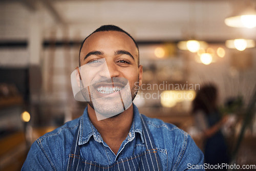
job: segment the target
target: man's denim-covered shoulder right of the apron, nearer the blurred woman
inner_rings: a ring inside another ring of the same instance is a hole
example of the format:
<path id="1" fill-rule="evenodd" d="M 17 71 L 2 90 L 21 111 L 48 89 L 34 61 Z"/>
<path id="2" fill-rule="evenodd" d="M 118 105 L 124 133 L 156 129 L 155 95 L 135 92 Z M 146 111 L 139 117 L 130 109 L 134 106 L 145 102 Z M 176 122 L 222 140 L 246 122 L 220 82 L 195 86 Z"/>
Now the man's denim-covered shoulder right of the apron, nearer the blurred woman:
<path id="1" fill-rule="evenodd" d="M 162 161 L 167 156 L 168 168 L 184 170 L 188 163 L 202 164 L 203 154 L 195 144 L 194 140 L 183 130 L 171 123 L 165 123 L 160 119 L 148 118 L 142 115 L 148 129 L 158 148 Z"/>

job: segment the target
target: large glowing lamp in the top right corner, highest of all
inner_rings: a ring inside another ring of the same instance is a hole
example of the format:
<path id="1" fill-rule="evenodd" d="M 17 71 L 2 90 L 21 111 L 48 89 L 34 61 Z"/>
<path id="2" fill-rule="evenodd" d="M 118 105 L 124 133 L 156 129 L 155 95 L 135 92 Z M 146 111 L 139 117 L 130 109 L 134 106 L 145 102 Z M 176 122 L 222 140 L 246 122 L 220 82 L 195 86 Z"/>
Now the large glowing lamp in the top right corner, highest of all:
<path id="1" fill-rule="evenodd" d="M 240 8 L 233 15 L 225 19 L 225 24 L 229 27 L 256 27 L 256 10 L 255 7 L 249 5 L 245 8 Z"/>

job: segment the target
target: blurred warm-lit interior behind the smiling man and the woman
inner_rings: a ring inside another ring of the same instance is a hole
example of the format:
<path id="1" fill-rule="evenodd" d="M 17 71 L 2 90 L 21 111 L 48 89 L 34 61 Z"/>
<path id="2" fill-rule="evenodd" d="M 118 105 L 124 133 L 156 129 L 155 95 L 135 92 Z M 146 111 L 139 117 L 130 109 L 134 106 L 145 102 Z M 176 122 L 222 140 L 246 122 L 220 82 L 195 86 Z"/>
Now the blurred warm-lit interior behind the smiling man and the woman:
<path id="1" fill-rule="evenodd" d="M 113 24 L 138 42 L 140 113 L 181 127 L 204 149 L 191 104 L 218 89 L 237 164 L 256 163 L 256 1 L 0 1 L 0 169 L 20 170 L 39 136 L 79 117 L 70 74 L 82 40 Z M 241 17 L 242 15 L 242 17 Z M 193 41 L 188 41 L 193 40 Z M 15 162 L 15 165 L 13 164 Z"/>

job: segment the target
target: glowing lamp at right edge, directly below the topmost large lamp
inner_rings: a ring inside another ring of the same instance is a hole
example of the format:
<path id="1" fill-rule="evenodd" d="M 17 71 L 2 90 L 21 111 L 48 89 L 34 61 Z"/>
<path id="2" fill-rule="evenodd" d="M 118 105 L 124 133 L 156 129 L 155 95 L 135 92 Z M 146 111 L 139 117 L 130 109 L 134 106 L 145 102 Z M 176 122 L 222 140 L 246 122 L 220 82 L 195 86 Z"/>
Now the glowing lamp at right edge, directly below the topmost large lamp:
<path id="1" fill-rule="evenodd" d="M 243 51 L 246 48 L 255 47 L 255 42 L 252 39 L 239 38 L 239 39 L 226 40 L 225 45 L 227 48 Z"/>

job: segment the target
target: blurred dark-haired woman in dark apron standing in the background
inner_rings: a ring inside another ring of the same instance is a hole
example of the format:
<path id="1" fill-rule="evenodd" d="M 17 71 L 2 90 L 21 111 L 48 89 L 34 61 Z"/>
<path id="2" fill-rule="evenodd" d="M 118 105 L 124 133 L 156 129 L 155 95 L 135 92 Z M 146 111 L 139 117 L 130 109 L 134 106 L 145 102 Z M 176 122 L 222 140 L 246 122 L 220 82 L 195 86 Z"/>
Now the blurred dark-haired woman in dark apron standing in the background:
<path id="1" fill-rule="evenodd" d="M 204 137 L 205 163 L 216 165 L 228 163 L 228 151 L 224 136 L 221 132 L 222 125 L 227 117 L 222 117 L 217 108 L 217 89 L 208 85 L 202 87 L 193 101 L 193 114 L 198 129 Z"/>

